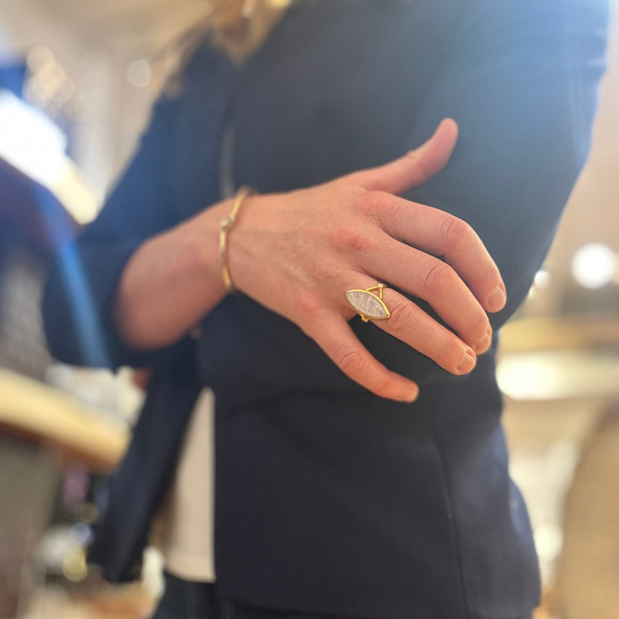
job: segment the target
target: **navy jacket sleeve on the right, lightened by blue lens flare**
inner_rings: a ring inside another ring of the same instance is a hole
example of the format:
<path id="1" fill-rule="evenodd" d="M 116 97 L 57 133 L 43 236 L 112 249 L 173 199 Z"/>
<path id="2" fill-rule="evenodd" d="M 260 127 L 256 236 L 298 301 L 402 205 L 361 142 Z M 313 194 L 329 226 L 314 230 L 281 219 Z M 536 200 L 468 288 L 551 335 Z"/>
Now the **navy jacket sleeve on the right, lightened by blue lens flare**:
<path id="1" fill-rule="evenodd" d="M 417 117 L 409 146 L 442 118 L 459 141 L 442 173 L 406 195 L 476 230 L 517 310 L 540 268 L 587 156 L 605 69 L 607 3 L 600 0 L 475 0 Z M 413 67 L 414 68 L 414 67 Z M 448 374 L 380 329 L 355 325 L 387 367 L 420 382 Z"/>

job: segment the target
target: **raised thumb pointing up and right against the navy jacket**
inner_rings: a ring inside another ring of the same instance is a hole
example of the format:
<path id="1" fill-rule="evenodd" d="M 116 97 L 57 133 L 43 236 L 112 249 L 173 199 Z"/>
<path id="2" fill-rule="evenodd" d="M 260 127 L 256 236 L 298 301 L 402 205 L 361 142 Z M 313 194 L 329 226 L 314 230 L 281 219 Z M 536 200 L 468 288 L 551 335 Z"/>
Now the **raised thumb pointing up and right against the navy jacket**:
<path id="1" fill-rule="evenodd" d="M 439 173 L 449 161 L 457 139 L 455 120 L 445 118 L 434 135 L 414 151 L 388 164 L 355 172 L 349 175 L 349 179 L 368 191 L 380 190 L 399 195 Z"/>

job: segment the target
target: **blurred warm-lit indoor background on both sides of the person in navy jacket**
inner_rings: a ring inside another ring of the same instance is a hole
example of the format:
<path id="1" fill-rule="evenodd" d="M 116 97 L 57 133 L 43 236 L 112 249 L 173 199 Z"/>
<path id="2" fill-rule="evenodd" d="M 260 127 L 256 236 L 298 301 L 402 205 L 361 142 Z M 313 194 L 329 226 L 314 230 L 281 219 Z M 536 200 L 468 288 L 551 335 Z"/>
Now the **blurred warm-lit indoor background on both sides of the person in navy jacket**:
<path id="1" fill-rule="evenodd" d="M 528 301 L 502 332 L 512 475 L 543 574 L 536 619 L 619 608 L 619 14 L 593 146 Z M 83 547 L 142 394 L 60 365 L 39 314 L 54 251 L 90 221 L 135 146 L 204 0 L 0 3 L 0 618 L 148 616 L 142 583 L 111 587 Z"/>

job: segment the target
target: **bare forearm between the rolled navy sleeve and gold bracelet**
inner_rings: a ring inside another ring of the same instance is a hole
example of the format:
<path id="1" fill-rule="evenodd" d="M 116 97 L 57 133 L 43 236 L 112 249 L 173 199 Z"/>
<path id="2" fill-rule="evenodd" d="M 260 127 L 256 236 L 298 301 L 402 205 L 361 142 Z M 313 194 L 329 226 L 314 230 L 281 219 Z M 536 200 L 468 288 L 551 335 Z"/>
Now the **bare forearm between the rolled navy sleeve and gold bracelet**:
<path id="1" fill-rule="evenodd" d="M 144 242 L 122 272 L 114 320 L 127 346 L 165 347 L 182 338 L 226 294 L 219 269 L 221 202 Z"/>

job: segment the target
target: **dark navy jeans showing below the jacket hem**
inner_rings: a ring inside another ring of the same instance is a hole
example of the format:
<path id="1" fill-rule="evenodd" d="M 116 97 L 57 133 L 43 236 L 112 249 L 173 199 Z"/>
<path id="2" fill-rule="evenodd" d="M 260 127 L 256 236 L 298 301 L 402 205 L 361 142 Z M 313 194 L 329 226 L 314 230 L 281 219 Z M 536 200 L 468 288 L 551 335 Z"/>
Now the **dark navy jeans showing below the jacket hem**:
<path id="1" fill-rule="evenodd" d="M 257 608 L 221 600 L 215 585 L 191 583 L 167 573 L 165 579 L 166 589 L 151 619 L 351 619 Z"/>

